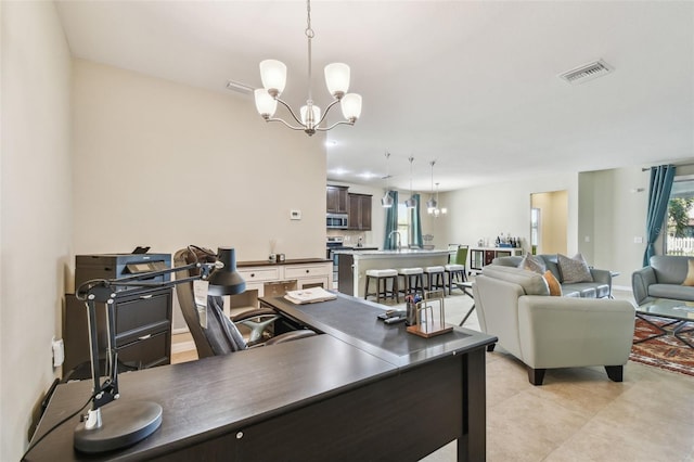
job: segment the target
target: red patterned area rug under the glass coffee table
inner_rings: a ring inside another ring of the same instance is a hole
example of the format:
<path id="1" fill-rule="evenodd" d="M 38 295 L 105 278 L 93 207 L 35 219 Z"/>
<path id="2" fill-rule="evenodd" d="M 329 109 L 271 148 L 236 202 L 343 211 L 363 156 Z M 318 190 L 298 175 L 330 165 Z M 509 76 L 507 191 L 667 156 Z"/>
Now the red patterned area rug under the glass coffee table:
<path id="1" fill-rule="evenodd" d="M 648 317 L 648 320 L 657 325 L 667 324 L 671 319 Z M 670 329 L 670 328 L 666 328 Z M 634 329 L 633 339 L 639 341 L 652 335 L 658 334 L 659 331 L 650 325 L 642 319 L 637 318 L 637 326 Z M 694 343 L 694 333 L 689 332 L 682 334 Z M 633 344 L 629 359 L 644 364 L 653 365 L 669 371 L 694 376 L 694 348 L 690 348 L 682 342 L 677 339 L 671 333 L 663 335 L 658 338 Z"/>

